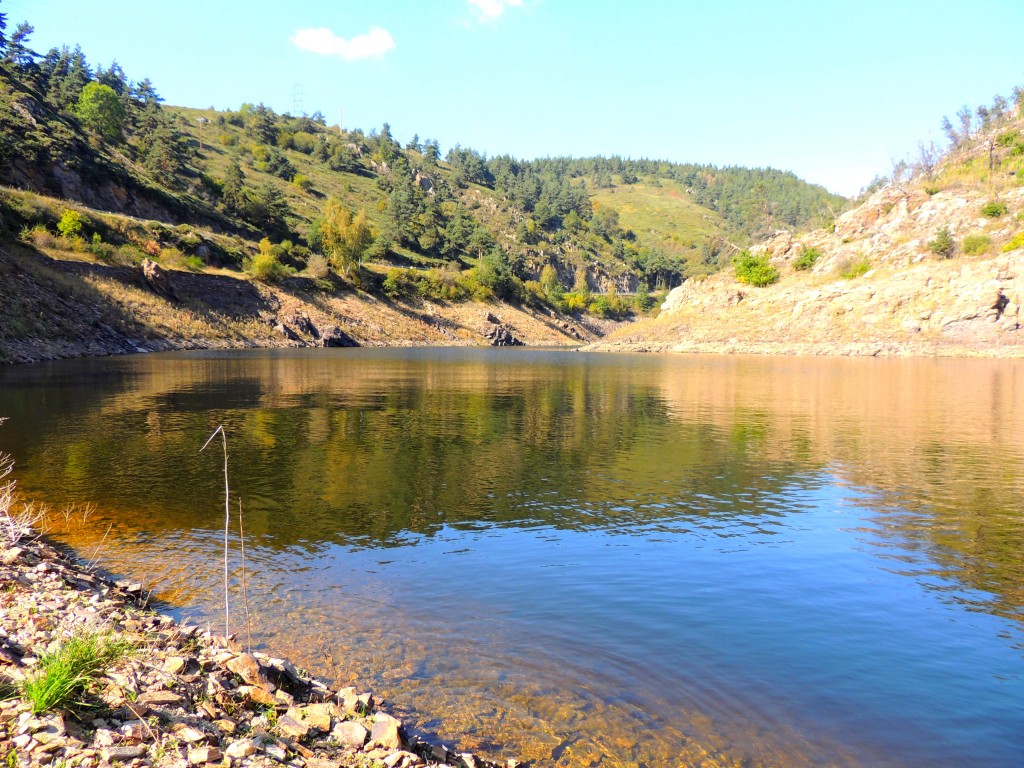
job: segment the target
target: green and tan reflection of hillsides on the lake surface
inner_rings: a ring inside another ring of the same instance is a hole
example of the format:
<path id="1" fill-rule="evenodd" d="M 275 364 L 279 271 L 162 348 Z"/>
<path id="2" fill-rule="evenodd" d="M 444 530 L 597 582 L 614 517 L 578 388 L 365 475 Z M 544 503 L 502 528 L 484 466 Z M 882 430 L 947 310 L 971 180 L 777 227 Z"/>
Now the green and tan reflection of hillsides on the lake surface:
<path id="1" fill-rule="evenodd" d="M 217 527 L 220 480 L 198 446 L 220 423 L 249 531 L 271 547 L 777 513 L 786 483 L 839 467 L 878 489 L 883 552 L 991 593 L 1004 615 L 1024 604 L 1013 361 L 389 352 L 49 370 L 42 395 L 28 370 L 0 387 L 22 417 L 3 437 L 24 486 L 63 483 L 61 499 L 152 530 Z"/>

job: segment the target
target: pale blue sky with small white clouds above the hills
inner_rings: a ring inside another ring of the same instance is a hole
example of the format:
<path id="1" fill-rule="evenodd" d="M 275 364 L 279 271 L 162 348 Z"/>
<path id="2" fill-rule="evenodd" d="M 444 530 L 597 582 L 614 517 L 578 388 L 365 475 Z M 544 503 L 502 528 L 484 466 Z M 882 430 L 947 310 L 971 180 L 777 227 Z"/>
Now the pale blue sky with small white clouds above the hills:
<path id="1" fill-rule="evenodd" d="M 853 194 L 1024 84 L 1021 0 L 0 0 L 168 103 L 520 158 L 771 166 Z"/>

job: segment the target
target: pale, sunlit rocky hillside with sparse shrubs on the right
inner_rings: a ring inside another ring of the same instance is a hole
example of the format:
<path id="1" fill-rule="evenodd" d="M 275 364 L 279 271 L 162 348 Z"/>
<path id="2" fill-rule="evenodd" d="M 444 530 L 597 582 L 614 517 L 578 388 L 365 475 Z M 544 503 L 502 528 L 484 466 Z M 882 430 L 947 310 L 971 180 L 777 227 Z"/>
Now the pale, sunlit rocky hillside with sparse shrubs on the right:
<path id="1" fill-rule="evenodd" d="M 1024 114 L 966 126 L 834 228 L 779 231 L 750 257 L 764 281 L 741 267 L 687 281 L 596 348 L 1024 355 Z"/>

